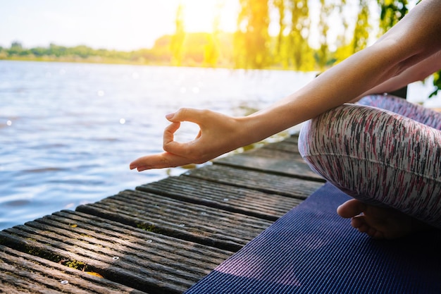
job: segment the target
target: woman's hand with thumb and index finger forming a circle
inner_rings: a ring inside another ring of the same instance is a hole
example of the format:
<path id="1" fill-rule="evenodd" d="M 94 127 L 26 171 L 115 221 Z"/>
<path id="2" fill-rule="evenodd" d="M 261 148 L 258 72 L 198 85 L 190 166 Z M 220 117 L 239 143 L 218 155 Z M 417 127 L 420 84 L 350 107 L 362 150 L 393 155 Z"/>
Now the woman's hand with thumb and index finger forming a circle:
<path id="1" fill-rule="evenodd" d="M 130 169 L 145 171 L 201 164 L 221 154 L 242 146 L 239 118 L 232 118 L 209 110 L 180 109 L 166 116 L 170 125 L 163 133 L 165 152 L 139 157 L 130 164 Z M 174 134 L 180 122 L 190 121 L 199 125 L 199 134 L 190 142 L 176 142 Z"/>

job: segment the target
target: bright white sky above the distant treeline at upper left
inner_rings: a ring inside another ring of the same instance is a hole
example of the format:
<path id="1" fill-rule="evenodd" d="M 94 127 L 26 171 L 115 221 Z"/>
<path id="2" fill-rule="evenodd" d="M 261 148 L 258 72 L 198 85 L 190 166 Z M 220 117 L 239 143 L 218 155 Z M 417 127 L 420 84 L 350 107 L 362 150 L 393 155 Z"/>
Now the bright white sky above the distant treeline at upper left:
<path id="1" fill-rule="evenodd" d="M 216 7 L 221 30 L 236 27 L 238 0 L 181 0 L 187 32 L 211 32 Z M 0 0 L 0 46 L 25 48 L 50 43 L 130 51 L 151 48 L 175 32 L 180 0 Z"/>

